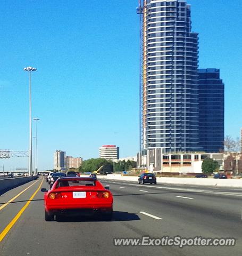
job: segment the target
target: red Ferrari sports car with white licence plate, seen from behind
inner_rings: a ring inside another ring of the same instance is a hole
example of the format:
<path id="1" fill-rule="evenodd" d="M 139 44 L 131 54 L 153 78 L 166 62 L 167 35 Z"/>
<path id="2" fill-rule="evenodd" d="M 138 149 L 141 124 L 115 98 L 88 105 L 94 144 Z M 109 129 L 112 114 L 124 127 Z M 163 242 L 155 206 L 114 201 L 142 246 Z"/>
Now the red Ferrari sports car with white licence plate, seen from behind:
<path id="1" fill-rule="evenodd" d="M 55 215 L 105 214 L 111 220 L 113 213 L 112 193 L 95 178 L 66 177 L 55 181 L 45 192 L 45 220 L 53 221 Z"/>

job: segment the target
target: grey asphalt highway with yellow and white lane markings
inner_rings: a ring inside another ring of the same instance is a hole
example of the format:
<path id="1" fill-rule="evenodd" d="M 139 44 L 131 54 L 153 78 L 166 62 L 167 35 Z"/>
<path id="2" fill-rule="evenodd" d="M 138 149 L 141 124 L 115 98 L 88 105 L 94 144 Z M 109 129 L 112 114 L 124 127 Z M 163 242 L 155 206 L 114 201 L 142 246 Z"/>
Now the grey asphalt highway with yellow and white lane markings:
<path id="1" fill-rule="evenodd" d="M 112 221 L 87 217 L 44 221 L 40 188 L 48 186 L 42 177 L 2 194 L 0 255 L 241 255 L 242 189 L 101 181 L 114 195 Z M 182 249 L 113 244 L 113 238 L 143 236 L 229 237 L 237 241 L 232 247 Z"/>

